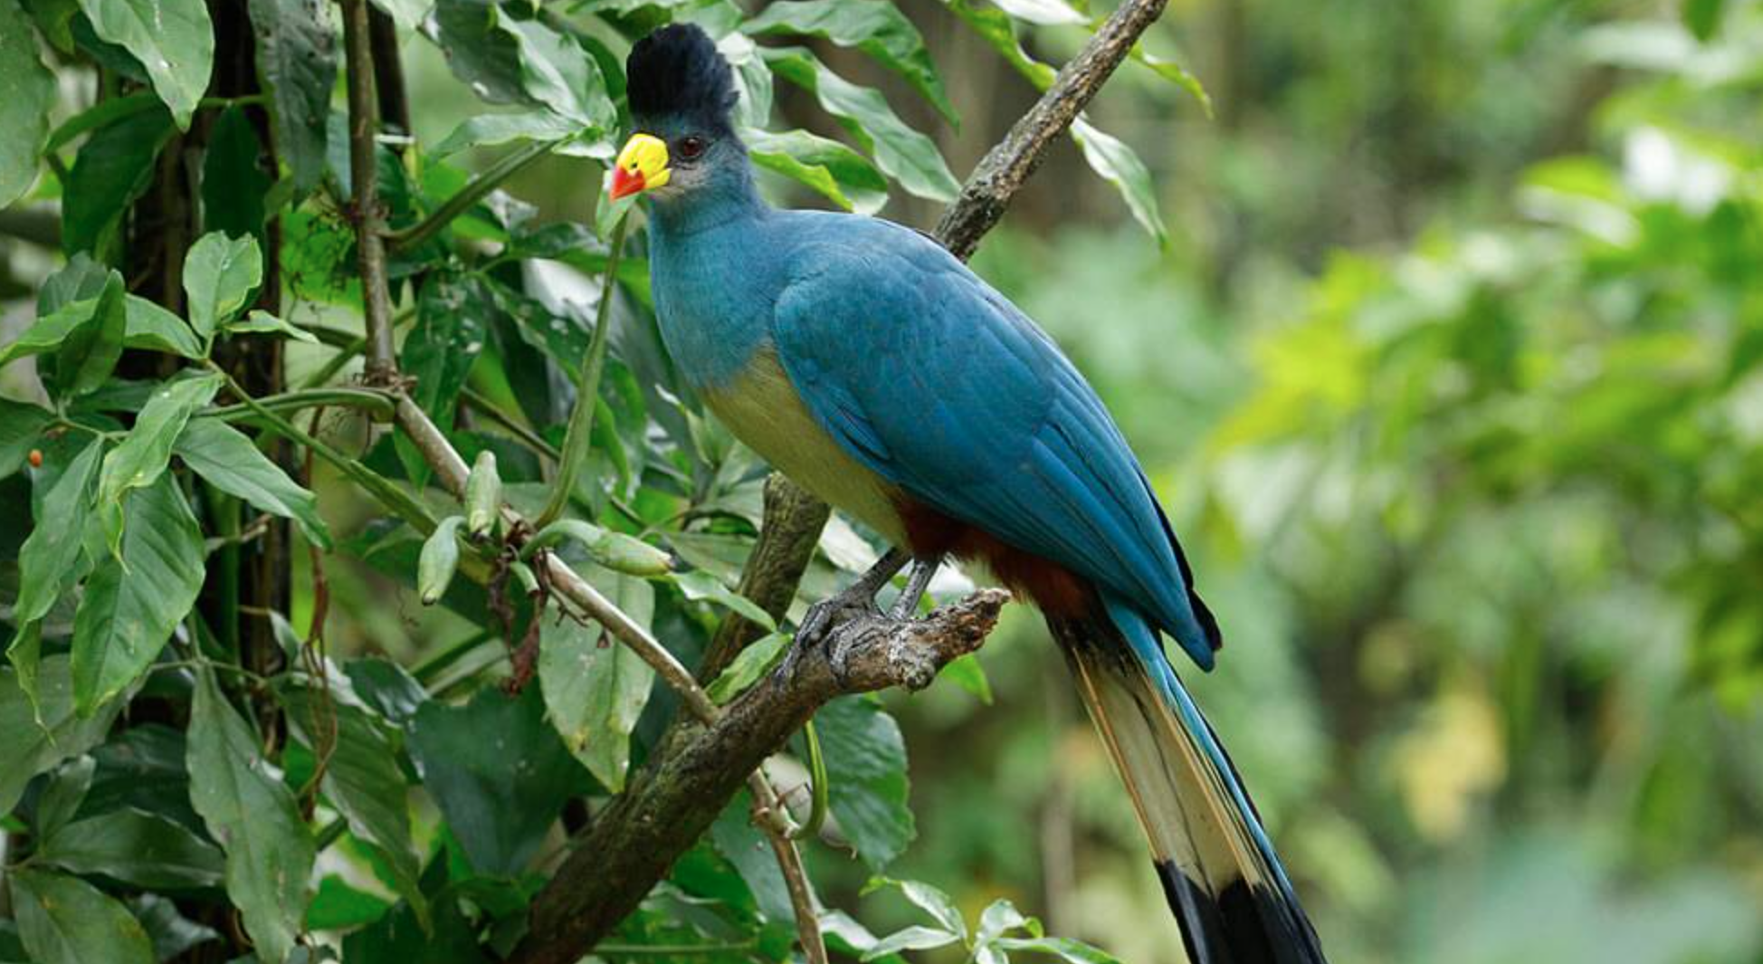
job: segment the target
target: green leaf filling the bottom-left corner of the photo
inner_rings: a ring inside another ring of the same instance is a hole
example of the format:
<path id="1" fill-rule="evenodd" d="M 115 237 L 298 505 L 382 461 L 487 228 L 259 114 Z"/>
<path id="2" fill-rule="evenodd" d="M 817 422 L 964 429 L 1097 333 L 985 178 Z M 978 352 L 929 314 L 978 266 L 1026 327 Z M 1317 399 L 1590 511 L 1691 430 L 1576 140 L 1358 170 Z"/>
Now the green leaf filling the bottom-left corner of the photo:
<path id="1" fill-rule="evenodd" d="M 37 964 L 153 964 L 141 922 L 79 878 L 12 871 L 12 913 Z"/>

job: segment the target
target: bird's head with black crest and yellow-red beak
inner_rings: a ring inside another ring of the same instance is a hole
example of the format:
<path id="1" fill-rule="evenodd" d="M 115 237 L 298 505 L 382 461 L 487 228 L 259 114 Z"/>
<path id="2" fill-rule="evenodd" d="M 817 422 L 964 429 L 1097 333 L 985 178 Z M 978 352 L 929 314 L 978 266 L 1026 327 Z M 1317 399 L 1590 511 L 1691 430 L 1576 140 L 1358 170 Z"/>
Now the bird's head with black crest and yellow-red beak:
<path id="1" fill-rule="evenodd" d="M 739 93 L 728 62 L 700 26 L 673 23 L 626 60 L 635 132 L 612 171 L 612 197 L 684 197 L 719 171 L 746 171 L 730 113 Z"/>

